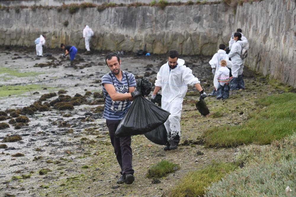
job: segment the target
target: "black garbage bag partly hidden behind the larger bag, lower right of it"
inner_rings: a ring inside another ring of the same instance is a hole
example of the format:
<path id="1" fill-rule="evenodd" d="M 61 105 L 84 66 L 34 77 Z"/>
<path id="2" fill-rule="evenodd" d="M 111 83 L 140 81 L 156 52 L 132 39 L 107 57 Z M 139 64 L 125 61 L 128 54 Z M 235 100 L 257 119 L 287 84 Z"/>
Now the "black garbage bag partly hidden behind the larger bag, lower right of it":
<path id="1" fill-rule="evenodd" d="M 162 124 L 156 129 L 144 134 L 147 139 L 155 144 L 165 145 L 167 141 L 167 131 L 165 125 Z"/>

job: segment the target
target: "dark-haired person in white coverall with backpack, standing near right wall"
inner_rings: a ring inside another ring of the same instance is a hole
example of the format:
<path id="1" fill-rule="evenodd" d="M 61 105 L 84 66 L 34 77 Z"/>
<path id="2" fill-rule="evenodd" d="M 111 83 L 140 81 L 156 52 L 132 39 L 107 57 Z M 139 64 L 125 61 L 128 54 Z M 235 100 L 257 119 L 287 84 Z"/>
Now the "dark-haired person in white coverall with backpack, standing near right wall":
<path id="1" fill-rule="evenodd" d="M 234 33 L 234 41 L 231 50 L 228 54 L 231 58 L 232 79 L 230 81 L 230 90 L 244 89 L 244 80 L 242 73 L 244 71 L 244 60 L 242 59 L 242 50 L 246 44 L 246 40 L 241 39 L 242 35 L 239 32 Z"/>

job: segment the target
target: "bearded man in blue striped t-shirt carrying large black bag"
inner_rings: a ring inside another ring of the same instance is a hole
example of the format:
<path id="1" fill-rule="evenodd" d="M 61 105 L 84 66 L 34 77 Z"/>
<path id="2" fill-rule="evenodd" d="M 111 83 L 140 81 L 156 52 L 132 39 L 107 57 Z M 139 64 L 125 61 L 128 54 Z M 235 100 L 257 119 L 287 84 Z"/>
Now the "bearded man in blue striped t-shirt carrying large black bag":
<path id="1" fill-rule="evenodd" d="M 116 138 L 115 131 L 131 106 L 133 97 L 141 95 L 141 90 L 135 89 L 134 75 L 120 69 L 121 60 L 117 53 L 107 53 L 105 61 L 110 72 L 102 77 L 105 98 L 103 118 L 106 118 L 111 144 L 121 168 L 121 176 L 117 183 L 132 184 L 135 178 L 132 168 L 131 136 Z"/>

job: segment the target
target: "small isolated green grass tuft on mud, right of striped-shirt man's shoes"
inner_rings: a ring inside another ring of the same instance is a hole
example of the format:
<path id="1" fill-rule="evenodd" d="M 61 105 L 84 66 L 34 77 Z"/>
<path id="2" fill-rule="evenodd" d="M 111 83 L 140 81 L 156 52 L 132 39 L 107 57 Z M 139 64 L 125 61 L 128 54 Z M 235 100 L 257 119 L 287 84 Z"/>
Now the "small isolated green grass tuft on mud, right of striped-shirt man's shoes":
<path id="1" fill-rule="evenodd" d="M 147 172 L 147 178 L 161 178 L 164 177 L 166 174 L 179 169 L 179 164 L 167 160 L 162 160 L 161 162 L 158 162 L 156 165 L 150 167 L 150 169 Z"/>

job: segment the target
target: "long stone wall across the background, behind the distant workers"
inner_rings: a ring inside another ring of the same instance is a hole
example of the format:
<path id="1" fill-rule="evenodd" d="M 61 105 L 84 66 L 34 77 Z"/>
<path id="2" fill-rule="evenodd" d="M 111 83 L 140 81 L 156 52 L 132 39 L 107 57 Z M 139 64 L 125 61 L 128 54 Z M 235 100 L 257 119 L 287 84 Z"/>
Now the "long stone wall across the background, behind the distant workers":
<path id="1" fill-rule="evenodd" d="M 224 4 L 86 8 L 74 14 L 56 8 L 1 10 L 0 44 L 31 46 L 42 33 L 51 48 L 60 43 L 84 48 L 82 31 L 89 25 L 93 49 L 137 51 L 146 43 L 151 53 L 175 48 L 186 55 L 212 55 L 219 43 L 228 42 L 233 17 Z"/>

